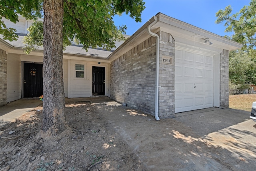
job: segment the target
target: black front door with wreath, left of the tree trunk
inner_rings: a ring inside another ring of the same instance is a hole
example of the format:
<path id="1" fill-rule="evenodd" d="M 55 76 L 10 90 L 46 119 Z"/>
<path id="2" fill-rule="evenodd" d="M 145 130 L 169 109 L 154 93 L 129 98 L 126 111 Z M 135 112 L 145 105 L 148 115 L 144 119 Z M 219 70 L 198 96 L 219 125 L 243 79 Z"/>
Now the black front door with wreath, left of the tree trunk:
<path id="1" fill-rule="evenodd" d="M 43 64 L 23 64 L 23 97 L 40 97 L 43 95 Z"/>

